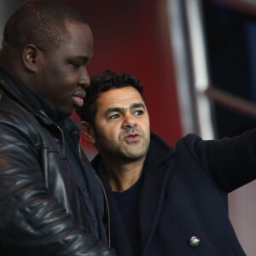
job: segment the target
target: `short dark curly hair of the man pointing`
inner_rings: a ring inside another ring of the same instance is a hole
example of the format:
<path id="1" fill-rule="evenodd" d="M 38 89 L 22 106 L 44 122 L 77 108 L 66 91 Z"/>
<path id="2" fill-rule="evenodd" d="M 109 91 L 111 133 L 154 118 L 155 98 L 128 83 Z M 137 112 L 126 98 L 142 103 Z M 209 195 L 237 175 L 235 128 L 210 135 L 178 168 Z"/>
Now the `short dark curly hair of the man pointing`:
<path id="1" fill-rule="evenodd" d="M 131 86 L 135 88 L 143 98 L 143 84 L 140 80 L 127 73 L 115 73 L 111 70 L 106 70 L 102 73 L 96 74 L 90 78 L 90 87 L 86 89 L 86 97 L 84 106 L 77 108 L 76 112 L 80 119 L 95 125 L 95 116 L 97 111 L 96 100 L 102 92 L 119 89 Z"/>

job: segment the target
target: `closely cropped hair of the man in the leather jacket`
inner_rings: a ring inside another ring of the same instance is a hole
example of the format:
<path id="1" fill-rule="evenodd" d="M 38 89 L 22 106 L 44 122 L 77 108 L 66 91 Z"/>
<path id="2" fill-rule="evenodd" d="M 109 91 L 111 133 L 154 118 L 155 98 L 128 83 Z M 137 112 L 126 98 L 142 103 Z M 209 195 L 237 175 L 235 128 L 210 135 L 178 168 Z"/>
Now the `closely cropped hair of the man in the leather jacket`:
<path id="1" fill-rule="evenodd" d="M 35 44 L 41 50 L 52 51 L 68 43 L 67 20 L 87 24 L 83 15 L 67 5 L 52 0 L 32 1 L 10 16 L 3 41 L 13 47 Z"/>

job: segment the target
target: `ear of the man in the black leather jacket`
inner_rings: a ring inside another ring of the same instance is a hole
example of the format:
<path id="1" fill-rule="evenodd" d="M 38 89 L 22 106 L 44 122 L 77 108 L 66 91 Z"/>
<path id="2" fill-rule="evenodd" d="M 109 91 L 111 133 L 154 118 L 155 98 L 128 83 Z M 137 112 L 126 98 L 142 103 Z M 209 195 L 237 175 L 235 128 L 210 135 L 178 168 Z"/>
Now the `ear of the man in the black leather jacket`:
<path id="1" fill-rule="evenodd" d="M 38 55 L 39 49 L 34 44 L 28 44 L 23 49 L 22 60 L 25 67 L 31 72 L 37 72 L 38 70 Z"/>

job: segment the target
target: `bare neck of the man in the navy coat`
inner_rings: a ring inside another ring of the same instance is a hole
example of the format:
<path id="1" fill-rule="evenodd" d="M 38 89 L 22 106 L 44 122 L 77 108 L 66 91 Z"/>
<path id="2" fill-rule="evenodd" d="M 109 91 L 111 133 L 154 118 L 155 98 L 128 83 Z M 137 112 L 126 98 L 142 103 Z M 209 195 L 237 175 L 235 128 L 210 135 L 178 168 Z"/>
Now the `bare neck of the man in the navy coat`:
<path id="1" fill-rule="evenodd" d="M 123 192 L 137 183 L 143 172 L 144 160 L 145 159 L 132 161 L 125 164 L 117 163 L 117 161 L 113 163 L 113 161 L 104 160 L 112 190 L 115 192 Z"/>

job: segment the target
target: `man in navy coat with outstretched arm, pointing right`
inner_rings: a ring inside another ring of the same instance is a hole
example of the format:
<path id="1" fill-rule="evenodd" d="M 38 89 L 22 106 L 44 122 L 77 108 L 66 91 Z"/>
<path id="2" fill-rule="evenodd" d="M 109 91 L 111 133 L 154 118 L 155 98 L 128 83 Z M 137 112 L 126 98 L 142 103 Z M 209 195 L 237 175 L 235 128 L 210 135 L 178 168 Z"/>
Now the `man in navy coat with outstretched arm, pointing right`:
<path id="1" fill-rule="evenodd" d="M 210 141 L 190 134 L 171 148 L 149 132 L 142 84 L 111 71 L 91 79 L 77 112 L 99 151 L 92 163 L 107 188 L 119 255 L 245 255 L 227 195 L 256 177 L 255 130 Z"/>

